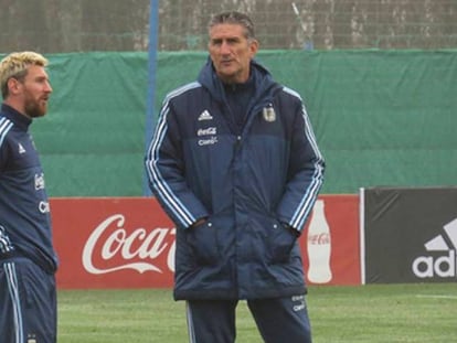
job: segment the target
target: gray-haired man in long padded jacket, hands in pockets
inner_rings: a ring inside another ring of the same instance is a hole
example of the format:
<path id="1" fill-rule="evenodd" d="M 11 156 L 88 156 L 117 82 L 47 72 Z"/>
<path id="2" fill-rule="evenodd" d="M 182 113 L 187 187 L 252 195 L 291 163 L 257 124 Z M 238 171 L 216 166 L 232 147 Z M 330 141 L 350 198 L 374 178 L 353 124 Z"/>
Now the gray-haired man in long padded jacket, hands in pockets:
<path id="1" fill-rule="evenodd" d="M 177 227 L 174 299 L 190 342 L 233 343 L 246 300 L 268 343 L 310 343 L 298 237 L 323 181 L 300 96 L 254 61 L 244 13 L 216 14 L 196 82 L 164 99 L 146 156 Z"/>

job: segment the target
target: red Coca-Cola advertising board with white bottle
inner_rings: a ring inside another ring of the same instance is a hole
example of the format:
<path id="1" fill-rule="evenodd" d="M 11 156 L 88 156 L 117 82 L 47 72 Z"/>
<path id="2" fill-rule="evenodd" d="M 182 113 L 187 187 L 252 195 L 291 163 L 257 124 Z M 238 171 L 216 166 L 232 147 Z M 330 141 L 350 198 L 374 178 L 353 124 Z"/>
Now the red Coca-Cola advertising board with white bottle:
<path id="1" fill-rule="evenodd" d="M 172 222 L 155 197 L 51 199 L 61 289 L 171 288 Z M 359 196 L 322 195 L 300 237 L 308 283 L 360 285 Z"/>

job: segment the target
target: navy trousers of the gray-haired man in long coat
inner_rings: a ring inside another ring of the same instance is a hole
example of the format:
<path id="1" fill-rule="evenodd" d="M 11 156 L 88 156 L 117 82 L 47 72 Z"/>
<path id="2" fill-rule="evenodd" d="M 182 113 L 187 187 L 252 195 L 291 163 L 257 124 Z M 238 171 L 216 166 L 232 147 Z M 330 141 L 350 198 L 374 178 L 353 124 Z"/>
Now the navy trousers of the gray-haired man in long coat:
<path id="1" fill-rule="evenodd" d="M 233 343 L 238 301 L 192 300 L 187 302 L 190 343 Z M 247 300 L 265 343 L 311 343 L 305 296 Z"/>

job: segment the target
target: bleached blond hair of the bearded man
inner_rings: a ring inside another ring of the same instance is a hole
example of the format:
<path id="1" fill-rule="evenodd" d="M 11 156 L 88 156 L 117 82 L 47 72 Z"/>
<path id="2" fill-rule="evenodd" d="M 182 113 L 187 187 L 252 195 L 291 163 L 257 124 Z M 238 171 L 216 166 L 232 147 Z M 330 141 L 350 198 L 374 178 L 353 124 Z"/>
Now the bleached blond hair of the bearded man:
<path id="1" fill-rule="evenodd" d="M 8 81 L 11 77 L 22 81 L 31 65 L 44 67 L 47 63 L 47 60 L 41 54 L 31 51 L 11 53 L 1 60 L 0 87 L 3 99 L 8 96 Z"/>

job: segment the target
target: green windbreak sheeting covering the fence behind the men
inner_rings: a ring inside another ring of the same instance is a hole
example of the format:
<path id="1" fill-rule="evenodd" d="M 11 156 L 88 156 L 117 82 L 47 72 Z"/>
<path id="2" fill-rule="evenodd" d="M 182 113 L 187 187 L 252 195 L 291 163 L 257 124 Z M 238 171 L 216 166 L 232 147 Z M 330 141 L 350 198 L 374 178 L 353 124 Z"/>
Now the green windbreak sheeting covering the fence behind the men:
<path id="1" fill-rule="evenodd" d="M 46 117 L 32 126 L 51 196 L 139 196 L 147 53 L 54 54 Z M 204 52 L 158 53 L 164 95 L 195 79 Z M 457 182 L 457 51 L 264 51 L 301 94 L 327 160 L 323 193 Z"/>

